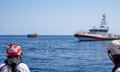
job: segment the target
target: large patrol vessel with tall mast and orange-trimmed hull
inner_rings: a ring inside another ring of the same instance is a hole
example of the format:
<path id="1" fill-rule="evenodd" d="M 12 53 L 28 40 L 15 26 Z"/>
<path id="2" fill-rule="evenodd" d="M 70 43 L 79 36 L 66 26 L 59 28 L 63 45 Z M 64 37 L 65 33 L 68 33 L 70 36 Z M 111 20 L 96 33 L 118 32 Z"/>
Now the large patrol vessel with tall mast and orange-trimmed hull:
<path id="1" fill-rule="evenodd" d="M 103 14 L 103 19 L 98 28 L 93 27 L 88 32 L 77 32 L 74 34 L 79 41 L 103 41 L 103 40 L 118 40 L 120 39 L 113 33 L 108 33 L 109 27 L 106 23 L 106 15 Z"/>

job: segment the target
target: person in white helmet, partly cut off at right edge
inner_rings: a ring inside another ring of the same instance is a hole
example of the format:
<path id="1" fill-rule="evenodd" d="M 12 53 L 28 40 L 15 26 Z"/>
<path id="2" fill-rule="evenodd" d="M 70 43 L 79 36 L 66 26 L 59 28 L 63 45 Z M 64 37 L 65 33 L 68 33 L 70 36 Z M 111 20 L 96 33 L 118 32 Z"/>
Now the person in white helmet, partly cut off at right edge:
<path id="1" fill-rule="evenodd" d="M 120 40 L 113 40 L 107 50 L 108 56 L 114 64 L 112 72 L 120 72 Z"/>

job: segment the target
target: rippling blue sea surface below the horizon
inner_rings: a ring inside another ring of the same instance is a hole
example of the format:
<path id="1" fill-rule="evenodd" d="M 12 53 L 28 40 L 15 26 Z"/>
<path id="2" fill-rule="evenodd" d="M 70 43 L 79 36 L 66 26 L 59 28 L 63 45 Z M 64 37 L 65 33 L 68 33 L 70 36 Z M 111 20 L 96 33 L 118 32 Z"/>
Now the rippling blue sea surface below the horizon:
<path id="1" fill-rule="evenodd" d="M 78 42 L 73 36 L 0 36 L 0 63 L 6 59 L 6 47 L 23 48 L 23 62 L 31 72 L 111 72 L 107 56 L 109 41 Z"/>

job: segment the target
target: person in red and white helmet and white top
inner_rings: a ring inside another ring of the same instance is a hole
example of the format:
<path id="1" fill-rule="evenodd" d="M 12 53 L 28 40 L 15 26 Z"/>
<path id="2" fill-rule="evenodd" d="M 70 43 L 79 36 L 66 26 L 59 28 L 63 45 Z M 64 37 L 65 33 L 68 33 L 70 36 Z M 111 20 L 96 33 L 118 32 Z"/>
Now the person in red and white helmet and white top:
<path id="1" fill-rule="evenodd" d="M 22 62 L 22 48 L 10 44 L 7 47 L 7 59 L 0 66 L 0 72 L 30 72 L 28 66 Z"/>

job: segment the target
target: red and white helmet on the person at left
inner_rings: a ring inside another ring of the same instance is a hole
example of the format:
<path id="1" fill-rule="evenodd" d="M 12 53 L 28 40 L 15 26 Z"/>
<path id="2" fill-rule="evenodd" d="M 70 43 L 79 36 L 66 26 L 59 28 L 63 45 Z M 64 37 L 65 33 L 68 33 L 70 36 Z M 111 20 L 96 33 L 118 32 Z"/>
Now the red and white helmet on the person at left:
<path id="1" fill-rule="evenodd" d="M 22 48 L 18 45 L 10 44 L 7 47 L 7 56 L 21 56 L 22 55 Z"/>

